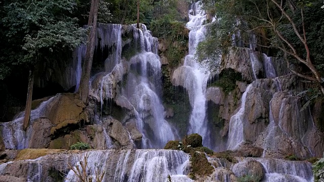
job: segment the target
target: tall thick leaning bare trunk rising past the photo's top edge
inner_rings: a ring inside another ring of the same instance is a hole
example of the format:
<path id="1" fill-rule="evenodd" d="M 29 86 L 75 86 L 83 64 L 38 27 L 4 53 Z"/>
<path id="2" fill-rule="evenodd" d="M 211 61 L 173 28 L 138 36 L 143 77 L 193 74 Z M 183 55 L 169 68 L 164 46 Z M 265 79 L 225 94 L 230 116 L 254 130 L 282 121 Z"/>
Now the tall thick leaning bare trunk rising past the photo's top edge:
<path id="1" fill-rule="evenodd" d="M 88 36 L 87 52 L 86 52 L 85 61 L 82 68 L 83 71 L 80 79 L 80 87 L 78 90 L 78 94 L 80 95 L 80 98 L 84 103 L 88 102 L 89 80 L 90 80 L 93 54 L 96 46 L 95 43 L 97 38 L 96 34 L 97 34 L 99 0 L 92 0 L 91 7 L 93 7 L 93 9 L 91 9 L 90 11 L 88 23 L 89 26 L 92 25 L 92 28 Z M 91 17 L 93 17 L 93 21 L 90 20 Z"/>

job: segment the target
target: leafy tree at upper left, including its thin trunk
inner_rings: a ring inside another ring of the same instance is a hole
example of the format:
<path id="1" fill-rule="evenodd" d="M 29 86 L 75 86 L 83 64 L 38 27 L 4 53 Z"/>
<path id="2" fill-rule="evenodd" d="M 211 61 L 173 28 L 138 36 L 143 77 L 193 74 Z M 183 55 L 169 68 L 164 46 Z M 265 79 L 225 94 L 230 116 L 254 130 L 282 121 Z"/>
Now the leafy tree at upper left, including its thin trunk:
<path id="1" fill-rule="evenodd" d="M 73 8 L 71 0 L 14 0 L 4 5 L 2 31 L 11 43 L 10 54 L 18 55 L 7 57 L 7 62 L 29 70 L 24 129 L 30 120 L 33 72 L 37 64 L 65 49 L 73 50 L 83 41 L 85 30 L 78 27 L 76 18 L 69 17 Z"/>

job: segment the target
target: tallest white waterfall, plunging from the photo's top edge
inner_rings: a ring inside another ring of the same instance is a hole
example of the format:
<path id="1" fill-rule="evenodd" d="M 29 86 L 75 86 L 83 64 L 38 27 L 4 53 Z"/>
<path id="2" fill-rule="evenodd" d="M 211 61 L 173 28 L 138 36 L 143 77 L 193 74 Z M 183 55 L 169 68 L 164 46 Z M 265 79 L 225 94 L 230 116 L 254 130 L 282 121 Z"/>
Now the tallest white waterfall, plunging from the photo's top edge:
<path id="1" fill-rule="evenodd" d="M 189 11 L 189 54 L 185 57 L 184 65 L 174 71 L 173 79 L 176 86 L 186 88 L 192 107 L 188 134 L 198 133 L 203 136 L 203 145 L 213 148 L 210 141 L 210 131 L 206 118 L 206 87 L 210 73 L 193 59 L 196 47 L 205 39 L 206 28 L 203 25 L 207 18 L 204 10 L 201 10 L 200 1 L 191 5 Z"/>

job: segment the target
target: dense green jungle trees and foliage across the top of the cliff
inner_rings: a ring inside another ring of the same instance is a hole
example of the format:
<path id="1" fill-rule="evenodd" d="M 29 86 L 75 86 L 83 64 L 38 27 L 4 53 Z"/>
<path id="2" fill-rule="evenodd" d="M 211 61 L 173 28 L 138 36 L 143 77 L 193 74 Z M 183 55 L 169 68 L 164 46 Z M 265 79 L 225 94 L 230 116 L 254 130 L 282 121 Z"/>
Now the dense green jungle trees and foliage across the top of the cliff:
<path id="1" fill-rule="evenodd" d="M 0 3 L 0 94 L 5 96 L 1 103 L 24 105 L 26 95 L 22 93 L 27 92 L 27 78 L 30 82 L 39 64 L 45 60 L 70 60 L 72 50 L 89 35 L 91 27 L 83 27 L 89 24 L 91 3 L 89 0 Z M 164 53 L 169 61 L 169 67 L 163 67 L 167 75 L 186 54 L 185 22 L 190 3 L 188 0 L 100 0 L 98 22 L 134 24 L 139 10 L 139 22 L 146 24 L 153 36 L 169 48 Z M 209 35 L 197 48 L 198 61 L 206 61 L 213 70 L 219 66 L 220 55 L 225 55 L 233 45 L 249 47 L 251 34 L 255 34 L 257 51 L 287 60 L 293 73 L 314 83 L 311 97 L 324 93 L 323 2 L 204 0 L 203 3 L 209 17 L 206 23 L 210 24 Z M 211 23 L 213 17 L 216 21 Z M 59 88 L 55 91 L 68 92 Z"/>

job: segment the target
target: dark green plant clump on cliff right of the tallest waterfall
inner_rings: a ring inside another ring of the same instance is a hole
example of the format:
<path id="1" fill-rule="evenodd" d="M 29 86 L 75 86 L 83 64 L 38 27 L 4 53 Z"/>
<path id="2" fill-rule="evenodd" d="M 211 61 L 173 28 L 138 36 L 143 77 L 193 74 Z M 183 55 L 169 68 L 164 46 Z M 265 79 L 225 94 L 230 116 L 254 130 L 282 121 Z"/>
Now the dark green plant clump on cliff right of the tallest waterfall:
<path id="1" fill-rule="evenodd" d="M 218 77 L 219 78 L 216 79 L 216 81 L 211 82 L 209 86 L 219 86 L 223 88 L 225 94 L 228 94 L 235 89 L 236 81 L 243 81 L 241 73 L 236 72 L 231 68 L 223 69 Z"/>

